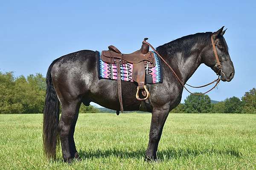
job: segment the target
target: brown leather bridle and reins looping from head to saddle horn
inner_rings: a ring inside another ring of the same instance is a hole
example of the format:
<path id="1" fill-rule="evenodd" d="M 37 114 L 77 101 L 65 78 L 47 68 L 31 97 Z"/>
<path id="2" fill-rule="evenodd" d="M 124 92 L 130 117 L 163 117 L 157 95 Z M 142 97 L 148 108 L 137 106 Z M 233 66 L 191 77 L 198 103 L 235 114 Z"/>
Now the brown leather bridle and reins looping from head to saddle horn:
<path id="1" fill-rule="evenodd" d="M 212 41 L 212 48 L 213 48 L 213 51 L 214 51 L 214 55 L 215 55 L 215 58 L 216 58 L 216 60 L 217 60 L 217 65 L 218 65 L 218 68 L 219 68 L 218 73 L 221 72 L 221 76 L 222 76 L 223 72 L 222 72 L 222 69 L 221 69 L 221 63 L 220 63 L 220 61 L 219 61 L 219 59 L 218 59 L 218 54 L 217 54 L 217 51 L 216 51 L 216 48 L 215 48 L 215 42 L 216 42 L 216 41 L 213 42 L 212 36 L 211 36 L 211 41 Z M 182 82 L 182 81 L 180 80 L 180 78 L 177 76 L 177 74 L 176 74 L 175 71 L 172 69 L 172 67 L 163 59 L 163 57 L 154 49 L 154 47 L 153 47 L 151 44 L 149 44 L 148 42 L 146 42 L 146 41 L 143 41 L 142 43 L 145 43 L 145 44 L 149 45 L 149 46 L 152 48 L 152 50 L 157 54 L 157 56 L 159 56 L 159 57 L 163 60 L 163 62 L 166 63 L 166 65 L 171 69 L 172 73 L 173 73 L 173 74 L 175 75 L 175 77 L 178 79 L 178 81 L 179 81 L 180 84 L 183 86 L 183 88 L 185 88 L 186 91 L 188 91 L 190 94 L 193 94 L 193 95 L 203 95 L 203 94 L 207 94 L 209 91 L 212 91 L 212 90 L 219 84 L 219 82 L 221 81 L 221 76 L 217 73 L 218 78 L 215 79 L 214 81 L 212 81 L 212 82 L 206 84 L 206 85 L 202 85 L 202 86 L 192 86 L 192 85 L 188 85 L 188 84 L 186 84 L 186 83 L 183 84 L 183 82 Z M 195 94 L 195 93 L 192 93 L 192 92 L 190 92 L 190 91 L 185 87 L 185 85 L 188 85 L 189 87 L 192 87 L 192 88 L 203 88 L 203 87 L 206 87 L 206 86 L 208 86 L 208 85 L 213 84 L 214 82 L 216 82 L 216 84 L 215 84 L 210 90 L 208 90 L 208 91 L 206 91 L 206 92 L 204 92 L 204 93 L 202 93 L 202 94 Z"/>

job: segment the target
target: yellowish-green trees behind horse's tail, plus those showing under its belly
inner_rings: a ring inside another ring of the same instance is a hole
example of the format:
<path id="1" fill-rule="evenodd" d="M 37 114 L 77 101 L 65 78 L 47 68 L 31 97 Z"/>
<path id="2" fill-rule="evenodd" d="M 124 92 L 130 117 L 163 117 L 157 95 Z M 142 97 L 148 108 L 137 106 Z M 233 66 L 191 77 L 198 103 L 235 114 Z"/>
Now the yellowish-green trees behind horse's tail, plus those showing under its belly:
<path id="1" fill-rule="evenodd" d="M 46 81 L 42 74 L 14 77 L 0 72 L 0 114 L 43 113 Z M 93 106 L 81 105 L 80 113 L 98 113 Z"/>

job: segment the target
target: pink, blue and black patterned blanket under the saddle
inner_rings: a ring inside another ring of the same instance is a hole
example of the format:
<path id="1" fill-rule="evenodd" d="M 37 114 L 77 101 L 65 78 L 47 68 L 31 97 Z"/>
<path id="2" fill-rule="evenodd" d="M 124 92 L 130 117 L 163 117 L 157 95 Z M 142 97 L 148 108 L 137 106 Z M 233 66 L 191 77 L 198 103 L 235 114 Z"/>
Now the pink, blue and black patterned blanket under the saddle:
<path id="1" fill-rule="evenodd" d="M 155 53 L 154 53 L 154 57 L 155 57 L 155 61 L 156 61 L 155 67 L 151 67 L 151 68 L 145 67 L 146 83 L 148 83 L 148 84 L 163 82 L 163 71 L 162 71 L 161 60 Z M 100 52 L 98 55 L 98 61 L 99 61 L 98 62 L 99 78 L 117 80 L 116 64 L 103 62 L 101 59 Z M 125 63 L 125 64 L 120 63 L 120 69 L 121 69 L 121 80 L 133 82 L 133 80 L 131 78 L 133 65 L 131 63 Z"/>

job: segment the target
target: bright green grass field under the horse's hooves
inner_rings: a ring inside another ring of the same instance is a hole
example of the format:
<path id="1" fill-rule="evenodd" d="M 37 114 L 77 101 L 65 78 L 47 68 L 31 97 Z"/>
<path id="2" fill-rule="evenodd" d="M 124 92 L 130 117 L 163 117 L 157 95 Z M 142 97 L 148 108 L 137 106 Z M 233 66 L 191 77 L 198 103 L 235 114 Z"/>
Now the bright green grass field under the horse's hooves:
<path id="1" fill-rule="evenodd" d="M 1 170 L 256 169 L 256 115 L 169 114 L 158 161 L 144 161 L 151 114 L 80 114 L 75 141 L 81 159 L 61 150 L 47 161 L 42 114 L 0 115 Z"/>

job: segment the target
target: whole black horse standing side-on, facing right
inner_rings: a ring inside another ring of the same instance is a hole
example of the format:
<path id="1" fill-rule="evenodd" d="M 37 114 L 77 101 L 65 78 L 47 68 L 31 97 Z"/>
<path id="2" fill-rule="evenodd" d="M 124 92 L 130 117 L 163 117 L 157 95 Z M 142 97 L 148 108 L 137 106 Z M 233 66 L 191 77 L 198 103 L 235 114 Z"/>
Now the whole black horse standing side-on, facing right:
<path id="1" fill-rule="evenodd" d="M 222 27 L 214 33 L 188 35 L 157 47 L 157 52 L 185 83 L 202 63 L 215 73 L 219 72 L 211 43 L 213 36 L 224 73 L 221 80 L 229 82 L 235 70 L 224 33 Z M 77 51 L 55 59 L 48 68 L 43 123 L 44 151 L 48 158 L 55 158 L 58 136 L 64 161 L 71 162 L 73 158 L 78 158 L 73 135 L 81 103 L 89 106 L 90 102 L 95 102 L 120 110 L 117 81 L 98 78 L 98 54 L 98 51 Z M 137 85 L 122 82 L 122 87 L 125 87 L 122 88 L 124 110 L 138 111 L 140 102 L 135 95 L 131 95 L 136 94 Z M 163 63 L 163 83 L 148 85 L 148 88 L 151 94 L 148 112 L 152 112 L 152 117 L 145 159 L 156 159 L 163 125 L 169 112 L 180 103 L 183 86 Z M 60 103 L 62 114 L 59 120 Z"/>

